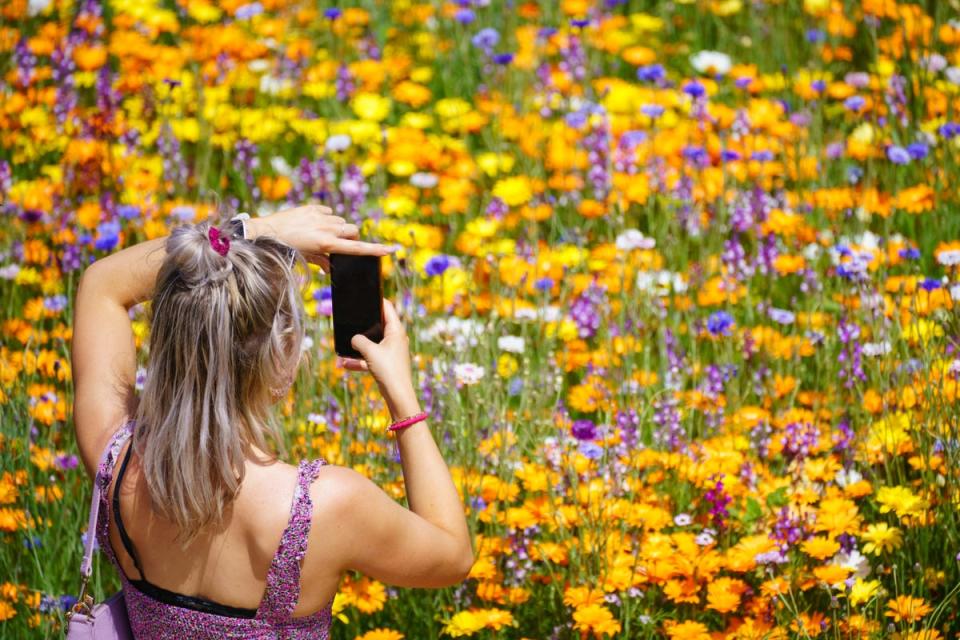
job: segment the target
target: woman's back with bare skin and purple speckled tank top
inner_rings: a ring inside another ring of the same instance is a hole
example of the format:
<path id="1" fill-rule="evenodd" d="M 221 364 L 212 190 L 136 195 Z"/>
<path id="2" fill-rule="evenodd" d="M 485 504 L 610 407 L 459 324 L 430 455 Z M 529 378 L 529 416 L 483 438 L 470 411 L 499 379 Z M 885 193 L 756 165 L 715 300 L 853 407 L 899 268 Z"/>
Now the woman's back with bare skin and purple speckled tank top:
<path id="1" fill-rule="evenodd" d="M 322 571 L 310 572 L 311 579 L 301 585 L 313 519 L 322 514 L 322 506 L 313 504 L 310 485 L 325 461 L 304 461 L 299 468 L 248 463 L 224 525 L 203 532 L 181 550 L 172 523 L 150 509 L 137 457 L 131 455 L 132 432 L 132 422 L 117 432 L 111 456 L 98 473 L 97 481 L 107 490 L 97 536 L 121 570 L 134 633 L 150 638 L 182 638 L 184 632 L 193 638 L 276 637 L 281 632 L 327 637 L 339 572 L 334 569 L 326 579 Z M 316 546 L 321 548 L 310 548 L 313 567 L 324 561 L 322 545 Z"/>

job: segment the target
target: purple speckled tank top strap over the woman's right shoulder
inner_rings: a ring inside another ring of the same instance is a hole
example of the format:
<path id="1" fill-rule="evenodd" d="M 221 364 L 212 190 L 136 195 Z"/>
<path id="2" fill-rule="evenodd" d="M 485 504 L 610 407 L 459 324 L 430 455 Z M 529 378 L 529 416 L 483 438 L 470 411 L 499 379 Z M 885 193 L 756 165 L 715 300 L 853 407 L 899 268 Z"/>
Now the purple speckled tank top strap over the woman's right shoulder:
<path id="1" fill-rule="evenodd" d="M 307 552 L 307 539 L 313 516 L 310 485 L 317 477 L 323 458 L 301 460 L 297 487 L 290 506 L 290 521 L 280 537 L 280 546 L 267 572 L 267 589 L 257 616 L 272 622 L 288 620 L 300 599 L 300 564 Z"/>

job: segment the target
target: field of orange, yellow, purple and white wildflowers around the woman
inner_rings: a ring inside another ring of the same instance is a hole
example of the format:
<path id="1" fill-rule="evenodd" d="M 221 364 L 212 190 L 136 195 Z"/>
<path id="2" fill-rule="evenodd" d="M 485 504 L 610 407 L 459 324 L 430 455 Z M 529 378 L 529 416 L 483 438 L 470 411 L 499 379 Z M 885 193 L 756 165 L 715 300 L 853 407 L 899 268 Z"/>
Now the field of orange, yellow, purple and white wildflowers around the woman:
<path id="1" fill-rule="evenodd" d="M 305 202 L 402 247 L 477 552 L 333 638 L 960 637 L 960 2 L 336 5 L 0 2 L 0 637 L 79 588 L 85 265 Z M 403 500 L 304 300 L 293 459 Z"/>

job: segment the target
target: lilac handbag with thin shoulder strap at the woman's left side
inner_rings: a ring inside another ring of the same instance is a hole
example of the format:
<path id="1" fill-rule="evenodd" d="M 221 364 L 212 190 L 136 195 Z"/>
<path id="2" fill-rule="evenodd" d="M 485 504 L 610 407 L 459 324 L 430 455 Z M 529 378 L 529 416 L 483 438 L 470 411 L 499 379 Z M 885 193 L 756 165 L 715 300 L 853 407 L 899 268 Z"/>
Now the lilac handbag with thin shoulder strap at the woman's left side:
<path id="1" fill-rule="evenodd" d="M 106 461 L 110 446 L 100 457 L 100 465 Z M 100 466 L 98 465 L 98 469 Z M 93 483 L 93 497 L 90 499 L 90 521 L 87 525 L 87 542 L 83 547 L 83 562 L 80 564 L 80 598 L 73 609 L 67 612 L 68 640 L 130 640 L 130 620 L 127 617 L 127 605 L 123 600 L 123 591 L 94 604 L 87 594 L 87 582 L 93 574 L 93 543 L 96 540 L 97 516 L 100 514 L 100 484 Z"/>

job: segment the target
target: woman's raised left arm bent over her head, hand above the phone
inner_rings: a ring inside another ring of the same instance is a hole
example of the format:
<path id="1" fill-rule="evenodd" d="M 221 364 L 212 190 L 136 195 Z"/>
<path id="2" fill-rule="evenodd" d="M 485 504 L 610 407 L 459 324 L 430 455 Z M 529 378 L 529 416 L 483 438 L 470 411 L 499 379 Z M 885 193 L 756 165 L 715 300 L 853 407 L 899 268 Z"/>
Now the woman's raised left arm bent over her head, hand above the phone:
<path id="1" fill-rule="evenodd" d="M 330 252 L 384 256 L 382 244 L 360 242 L 359 229 L 306 205 L 247 221 L 249 238 L 271 235 L 326 264 Z M 130 308 L 149 300 L 166 257 L 166 236 L 110 254 L 87 267 L 74 300 L 73 420 L 80 457 L 93 476 L 103 448 L 136 411 L 136 347 Z"/>

